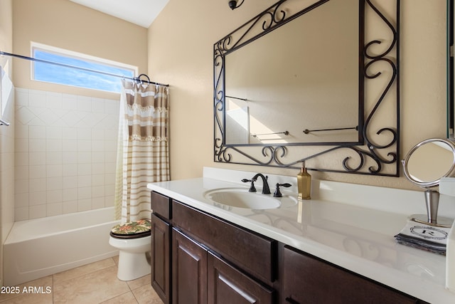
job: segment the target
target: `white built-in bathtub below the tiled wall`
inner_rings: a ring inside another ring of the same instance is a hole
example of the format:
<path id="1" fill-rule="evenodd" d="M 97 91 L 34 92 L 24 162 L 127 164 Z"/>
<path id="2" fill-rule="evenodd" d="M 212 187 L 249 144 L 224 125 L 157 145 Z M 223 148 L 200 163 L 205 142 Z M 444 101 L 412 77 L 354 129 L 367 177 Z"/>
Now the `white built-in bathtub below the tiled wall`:
<path id="1" fill-rule="evenodd" d="M 16 221 L 4 243 L 4 285 L 13 286 L 116 256 L 114 207 Z"/>

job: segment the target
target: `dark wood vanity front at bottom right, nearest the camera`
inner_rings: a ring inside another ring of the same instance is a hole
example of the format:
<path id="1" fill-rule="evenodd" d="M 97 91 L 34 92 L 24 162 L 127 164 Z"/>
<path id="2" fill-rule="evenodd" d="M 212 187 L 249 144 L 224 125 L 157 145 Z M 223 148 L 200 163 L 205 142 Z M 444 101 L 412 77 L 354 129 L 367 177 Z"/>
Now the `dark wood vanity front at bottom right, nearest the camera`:
<path id="1" fill-rule="evenodd" d="M 417 303 L 396 290 L 284 247 L 281 303 Z"/>

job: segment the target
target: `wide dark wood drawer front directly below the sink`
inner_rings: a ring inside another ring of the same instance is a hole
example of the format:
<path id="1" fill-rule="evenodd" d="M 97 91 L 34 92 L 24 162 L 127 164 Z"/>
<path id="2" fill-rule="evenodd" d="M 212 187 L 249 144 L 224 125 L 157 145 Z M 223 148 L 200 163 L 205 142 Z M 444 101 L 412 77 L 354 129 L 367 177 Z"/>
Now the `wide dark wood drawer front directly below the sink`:
<path id="1" fill-rule="evenodd" d="M 277 241 L 173 201 L 173 225 L 264 283 L 275 280 Z"/>

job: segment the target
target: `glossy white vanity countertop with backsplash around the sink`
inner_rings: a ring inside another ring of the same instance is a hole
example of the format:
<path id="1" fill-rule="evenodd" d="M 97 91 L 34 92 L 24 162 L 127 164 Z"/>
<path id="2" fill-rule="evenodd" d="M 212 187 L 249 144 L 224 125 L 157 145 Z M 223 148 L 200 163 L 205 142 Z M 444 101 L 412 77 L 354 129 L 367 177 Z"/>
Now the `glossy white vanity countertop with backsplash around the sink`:
<path id="1" fill-rule="evenodd" d="M 445 288 L 446 257 L 397 244 L 394 239 L 407 216 L 425 213 L 422 192 L 314 181 L 311 200 L 267 210 L 226 207 L 204 197 L 212 189 L 248 189 L 249 184 L 240 179 L 254 174 L 204 168 L 203 178 L 148 187 L 421 300 L 455 303 L 455 293 Z M 272 193 L 277 182 L 289 182 L 292 191 L 282 188 L 282 193 L 296 195 L 295 177 L 268 175 Z M 258 179 L 255 185 L 257 195 L 264 195 L 260 194 L 262 181 Z M 441 195 L 440 216 L 455 217 L 453 200 Z"/>

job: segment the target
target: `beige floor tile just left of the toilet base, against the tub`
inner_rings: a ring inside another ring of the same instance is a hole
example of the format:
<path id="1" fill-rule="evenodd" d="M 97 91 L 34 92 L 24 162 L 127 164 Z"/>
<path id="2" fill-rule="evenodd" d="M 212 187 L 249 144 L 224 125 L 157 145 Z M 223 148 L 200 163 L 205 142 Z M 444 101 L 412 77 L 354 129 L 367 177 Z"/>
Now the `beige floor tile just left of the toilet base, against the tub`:
<path id="1" fill-rule="evenodd" d="M 117 266 L 87 273 L 69 281 L 54 283 L 54 303 L 102 303 L 129 292 L 127 283 L 117 279 Z"/>

